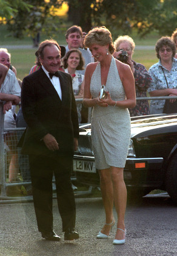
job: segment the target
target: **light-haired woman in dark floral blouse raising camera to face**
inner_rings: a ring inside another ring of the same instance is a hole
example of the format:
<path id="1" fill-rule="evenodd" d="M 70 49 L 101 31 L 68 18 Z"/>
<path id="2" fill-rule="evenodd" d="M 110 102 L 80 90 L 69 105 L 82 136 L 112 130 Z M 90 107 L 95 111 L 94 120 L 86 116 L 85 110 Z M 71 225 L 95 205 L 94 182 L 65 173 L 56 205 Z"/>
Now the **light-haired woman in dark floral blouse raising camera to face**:
<path id="1" fill-rule="evenodd" d="M 120 36 L 115 40 L 114 45 L 116 51 L 114 52 L 113 56 L 116 59 L 120 59 L 122 50 L 127 52 L 127 60 L 125 60 L 124 63 L 128 64 L 132 69 L 132 73 L 135 78 L 136 97 L 147 97 L 146 92 L 150 87 L 151 77 L 144 65 L 132 60 L 133 51 L 135 49 L 133 39 L 129 37 L 129 35 Z M 136 101 L 135 108 L 129 108 L 129 112 L 130 116 L 149 115 L 150 110 L 148 101 Z"/>

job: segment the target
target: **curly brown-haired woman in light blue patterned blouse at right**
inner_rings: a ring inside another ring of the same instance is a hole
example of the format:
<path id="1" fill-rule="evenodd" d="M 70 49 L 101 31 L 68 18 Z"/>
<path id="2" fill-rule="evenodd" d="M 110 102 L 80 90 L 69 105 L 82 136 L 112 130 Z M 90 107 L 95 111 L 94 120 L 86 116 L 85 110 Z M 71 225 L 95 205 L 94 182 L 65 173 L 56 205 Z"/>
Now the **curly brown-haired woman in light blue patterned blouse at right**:
<path id="1" fill-rule="evenodd" d="M 176 46 L 170 37 L 161 37 L 155 46 L 158 63 L 152 65 L 149 69 L 152 77 L 152 84 L 149 88 L 149 94 L 156 96 L 177 96 L 177 59 L 175 59 Z M 170 102 L 175 102 L 171 99 Z M 155 99 L 150 103 L 151 114 L 163 113 L 165 100 Z"/>

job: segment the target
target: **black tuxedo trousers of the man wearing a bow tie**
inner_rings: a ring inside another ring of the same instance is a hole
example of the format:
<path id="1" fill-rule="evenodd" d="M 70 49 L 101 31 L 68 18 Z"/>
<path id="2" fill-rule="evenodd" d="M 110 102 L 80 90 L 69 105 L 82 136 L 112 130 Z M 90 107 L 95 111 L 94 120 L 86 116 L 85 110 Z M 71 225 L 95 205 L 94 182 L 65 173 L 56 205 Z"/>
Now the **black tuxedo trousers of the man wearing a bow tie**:
<path id="1" fill-rule="evenodd" d="M 62 219 L 62 231 L 75 227 L 76 206 L 70 180 L 73 156 L 29 155 L 32 177 L 33 202 L 39 232 L 53 230 L 53 174 L 56 182 L 58 210 Z"/>

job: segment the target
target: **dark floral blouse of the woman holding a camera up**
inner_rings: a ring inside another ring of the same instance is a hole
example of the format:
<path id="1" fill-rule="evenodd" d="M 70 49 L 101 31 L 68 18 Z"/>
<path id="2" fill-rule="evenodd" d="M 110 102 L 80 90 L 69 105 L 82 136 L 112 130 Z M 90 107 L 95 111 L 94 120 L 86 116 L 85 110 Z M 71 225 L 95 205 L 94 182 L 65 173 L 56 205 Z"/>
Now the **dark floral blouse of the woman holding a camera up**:
<path id="1" fill-rule="evenodd" d="M 136 97 L 147 97 L 146 91 L 150 87 L 151 77 L 147 69 L 141 63 L 132 60 L 135 73 Z M 149 103 L 145 100 L 137 100 L 135 108 L 129 108 L 130 116 L 150 115 Z"/>

